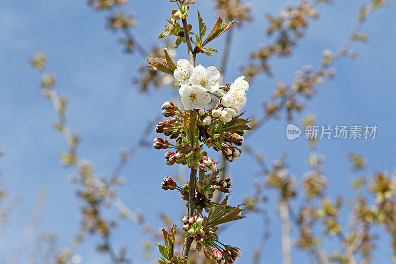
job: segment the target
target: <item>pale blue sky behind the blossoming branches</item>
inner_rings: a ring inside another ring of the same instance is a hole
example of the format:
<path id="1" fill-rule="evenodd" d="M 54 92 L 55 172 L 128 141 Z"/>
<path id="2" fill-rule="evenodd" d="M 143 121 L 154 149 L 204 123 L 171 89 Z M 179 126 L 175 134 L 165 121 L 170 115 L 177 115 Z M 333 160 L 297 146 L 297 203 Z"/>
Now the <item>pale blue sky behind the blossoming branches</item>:
<path id="1" fill-rule="evenodd" d="M 152 6 L 147 8 L 147 2 Z M 252 0 L 254 22 L 237 29 L 225 80 L 240 76 L 239 65 L 247 61 L 247 53 L 258 43 L 269 39 L 261 34 L 266 25 L 263 14 L 276 14 L 286 1 Z M 274 76 L 260 76 L 250 84 L 247 113 L 260 114 L 260 101 L 268 100 L 275 83 L 291 83 L 294 72 L 305 64 L 320 63 L 321 52 L 336 50 L 347 38 L 356 21 L 356 12 L 366 1 L 335 0 L 320 6 L 321 17 L 310 23 L 305 37 L 298 43 L 294 54 L 287 59 L 274 58 Z M 207 25 L 212 25 L 216 13 L 209 7 L 213 2 L 198 0 L 191 6 L 189 22 L 196 25 L 199 9 Z M 157 40 L 165 19 L 169 18 L 174 3 L 170 1 L 131 1 L 128 10 L 137 13 L 138 25 L 134 29 L 144 45 Z M 164 11 L 169 10 L 169 11 Z M 355 175 L 347 161 L 348 151 L 362 153 L 368 161 L 367 173 L 395 169 L 394 131 L 396 100 L 396 3 L 390 3 L 375 12 L 364 26 L 370 40 L 353 46 L 355 59 L 341 58 L 334 66 L 334 80 L 319 86 L 319 93 L 306 104 L 306 109 L 296 116 L 294 123 L 306 113 L 317 115 L 320 125 L 359 124 L 378 126 L 374 140 L 322 140 L 318 152 L 326 156 L 325 173 L 330 184 L 329 195 L 350 198 L 349 182 Z M 68 182 L 73 169 L 65 169 L 58 162 L 58 153 L 66 149 L 60 134 L 50 124 L 56 116 L 50 103 L 38 93 L 39 76 L 27 62 L 41 50 L 48 55 L 48 68 L 57 74 L 57 90 L 67 94 L 68 122 L 80 134 L 82 143 L 79 157 L 93 160 L 96 173 L 111 173 L 118 162 L 120 147 L 129 147 L 140 135 L 147 120 L 159 111 L 163 101 L 170 99 L 169 89 L 141 95 L 131 84 L 138 65 L 145 63 L 138 54 L 122 53 L 117 44 L 119 36 L 105 30 L 105 13 L 94 12 L 84 0 L 3 0 L 0 4 L 0 146 L 4 157 L 0 159 L 1 186 L 10 197 L 21 196 L 23 202 L 13 211 L 9 223 L 0 233 L 0 259 L 3 259 L 23 231 L 39 189 L 47 186 L 49 198 L 34 237 L 41 232 L 58 234 L 57 249 L 68 245 L 79 225 L 80 203 L 75 197 L 76 186 Z M 254 38 L 252 37 L 254 36 Z M 221 52 L 222 40 L 212 45 Z M 186 58 L 186 47 L 178 49 L 178 58 Z M 197 63 L 218 66 L 220 55 L 198 56 Z M 289 170 L 297 177 L 307 171 L 309 150 L 302 139 L 288 141 L 285 128 L 289 122 L 281 118 L 268 122 L 249 138 L 257 151 L 264 151 L 268 162 L 287 153 Z M 156 137 L 153 134 L 151 137 Z M 259 143 L 257 143 L 259 142 Z M 142 149 L 131 160 L 122 176 L 127 183 L 119 189 L 119 197 L 131 209 L 142 208 L 148 221 L 160 227 L 158 212 L 179 215 L 179 196 L 162 191 L 159 183 L 164 176 L 178 172 L 177 166 L 166 166 L 162 151 Z M 253 171 L 257 165 L 247 156 L 231 164 L 234 181 L 230 202 L 238 204 L 244 194 L 252 193 Z M 268 192 L 265 205 L 271 216 L 272 235 L 264 250 L 263 263 L 280 263 L 280 227 L 276 214 L 276 194 Z M 166 201 L 167 204 L 163 204 Z M 346 201 L 346 205 L 348 202 Z M 296 202 L 296 207 L 299 205 Z M 115 215 L 109 210 L 108 215 Z M 344 217 L 347 221 L 347 217 Z M 175 221 L 178 218 L 175 217 Z M 239 246 L 243 251 L 240 263 L 251 258 L 261 232 L 262 219 L 258 215 L 235 223 L 222 234 L 222 241 Z M 180 222 L 180 221 L 179 221 Z M 177 222 L 178 223 L 178 222 Z M 179 223 L 180 224 L 180 223 Z M 238 234 L 238 236 L 236 235 Z M 126 219 L 119 221 L 113 234 L 115 248 L 127 246 L 135 263 L 141 259 L 143 235 L 136 224 Z M 97 238 L 89 238 L 77 250 L 83 263 L 108 263 L 107 256 L 93 254 Z M 378 241 L 373 263 L 390 263 L 390 240 Z M 330 243 L 332 246 L 334 243 Z M 32 244 L 28 246 L 29 252 Z M 26 263 L 27 253 L 18 263 Z M 306 263 L 307 256 L 293 250 L 295 263 Z"/>

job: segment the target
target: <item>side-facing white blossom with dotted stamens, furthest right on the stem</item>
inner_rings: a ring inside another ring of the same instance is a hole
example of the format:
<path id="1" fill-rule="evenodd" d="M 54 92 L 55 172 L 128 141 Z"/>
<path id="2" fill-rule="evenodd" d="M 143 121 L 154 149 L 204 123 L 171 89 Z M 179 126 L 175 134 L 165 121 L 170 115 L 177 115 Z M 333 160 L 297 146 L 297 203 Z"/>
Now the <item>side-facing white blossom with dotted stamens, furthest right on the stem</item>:
<path id="1" fill-rule="evenodd" d="M 249 83 L 244 78 L 245 76 L 241 76 L 231 84 L 230 91 L 220 98 L 220 104 L 225 107 L 245 106 L 247 100 L 245 91 L 249 89 Z"/>

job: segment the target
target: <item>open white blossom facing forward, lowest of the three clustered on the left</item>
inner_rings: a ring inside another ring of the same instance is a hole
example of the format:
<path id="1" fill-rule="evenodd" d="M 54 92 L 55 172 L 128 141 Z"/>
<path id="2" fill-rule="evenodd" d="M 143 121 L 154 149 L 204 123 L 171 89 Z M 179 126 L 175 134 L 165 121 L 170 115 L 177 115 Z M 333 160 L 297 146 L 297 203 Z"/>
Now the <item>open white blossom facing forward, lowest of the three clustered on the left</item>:
<path id="1" fill-rule="evenodd" d="M 197 85 L 182 85 L 179 94 L 186 110 L 190 110 L 192 107 L 195 109 L 206 108 L 211 101 L 207 90 Z"/>

